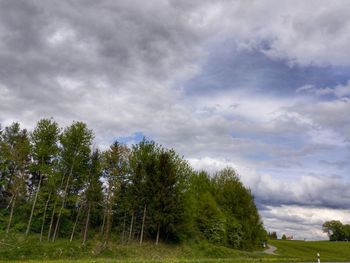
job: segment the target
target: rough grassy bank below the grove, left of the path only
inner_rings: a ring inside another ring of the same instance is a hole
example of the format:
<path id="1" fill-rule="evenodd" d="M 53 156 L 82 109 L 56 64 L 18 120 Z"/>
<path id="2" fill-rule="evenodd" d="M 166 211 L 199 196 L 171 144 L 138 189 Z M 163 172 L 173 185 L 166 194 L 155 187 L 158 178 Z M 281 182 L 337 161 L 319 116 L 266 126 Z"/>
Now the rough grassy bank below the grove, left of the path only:
<path id="1" fill-rule="evenodd" d="M 96 262 L 131 260 L 132 262 L 160 261 L 174 259 L 210 259 L 210 258 L 245 258 L 250 253 L 215 246 L 208 243 L 187 243 L 182 245 L 160 244 L 145 242 L 120 245 L 110 242 L 108 249 L 102 250 L 102 244 L 97 240 L 90 240 L 86 247 L 81 246 L 81 240 L 69 242 L 67 239 L 51 242 L 38 242 L 38 236 L 28 238 L 23 235 L 2 237 L 0 233 L 0 261 L 1 260 L 41 260 L 51 259 L 71 260 L 92 259 Z M 131 262 L 130 261 L 130 262 Z M 34 262 L 34 261 L 33 261 Z M 35 261 L 36 262 L 36 261 Z M 61 261 L 58 261 L 61 262 Z M 92 261 L 91 261 L 92 262 Z"/>

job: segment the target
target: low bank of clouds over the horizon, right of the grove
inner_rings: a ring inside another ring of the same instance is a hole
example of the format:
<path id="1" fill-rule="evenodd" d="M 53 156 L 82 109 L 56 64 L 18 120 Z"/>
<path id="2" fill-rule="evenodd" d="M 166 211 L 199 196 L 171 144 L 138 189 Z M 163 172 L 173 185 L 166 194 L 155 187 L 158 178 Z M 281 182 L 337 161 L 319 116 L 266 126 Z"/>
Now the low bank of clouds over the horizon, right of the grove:
<path id="1" fill-rule="evenodd" d="M 191 158 L 191 165 L 211 173 L 233 167 L 251 188 L 264 226 L 268 231 L 292 235 L 295 239 L 328 239 L 322 224 L 329 220 L 350 223 L 349 185 L 342 178 L 303 175 L 285 178 L 259 173 L 252 163 L 215 158 Z"/>

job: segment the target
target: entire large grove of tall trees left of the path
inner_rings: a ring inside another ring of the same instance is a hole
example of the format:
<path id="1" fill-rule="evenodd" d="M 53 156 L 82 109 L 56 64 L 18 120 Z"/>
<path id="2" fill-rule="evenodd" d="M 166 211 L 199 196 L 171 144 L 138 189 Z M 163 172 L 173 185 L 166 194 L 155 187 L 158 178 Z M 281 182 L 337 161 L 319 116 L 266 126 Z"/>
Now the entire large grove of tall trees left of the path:
<path id="1" fill-rule="evenodd" d="M 248 249 L 266 239 L 253 195 L 233 169 L 194 171 L 145 138 L 104 151 L 93 139 L 83 122 L 0 127 L 0 231 L 40 242 L 98 238 L 104 246 L 205 239 Z"/>

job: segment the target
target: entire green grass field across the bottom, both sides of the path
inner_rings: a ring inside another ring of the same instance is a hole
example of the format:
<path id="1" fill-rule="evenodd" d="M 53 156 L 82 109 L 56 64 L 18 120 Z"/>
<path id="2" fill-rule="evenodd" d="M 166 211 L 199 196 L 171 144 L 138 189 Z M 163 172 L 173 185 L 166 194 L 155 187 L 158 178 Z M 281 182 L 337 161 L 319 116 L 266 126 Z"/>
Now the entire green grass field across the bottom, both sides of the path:
<path id="1" fill-rule="evenodd" d="M 102 250 L 98 241 L 90 241 L 82 247 L 80 241 L 39 243 L 35 237 L 17 236 L 6 242 L 0 239 L 0 262 L 316 262 L 317 252 L 321 254 L 322 262 L 350 262 L 350 242 L 272 240 L 269 243 L 277 247 L 278 255 L 197 242 L 159 246 L 153 243 L 120 245 L 115 242 Z"/>

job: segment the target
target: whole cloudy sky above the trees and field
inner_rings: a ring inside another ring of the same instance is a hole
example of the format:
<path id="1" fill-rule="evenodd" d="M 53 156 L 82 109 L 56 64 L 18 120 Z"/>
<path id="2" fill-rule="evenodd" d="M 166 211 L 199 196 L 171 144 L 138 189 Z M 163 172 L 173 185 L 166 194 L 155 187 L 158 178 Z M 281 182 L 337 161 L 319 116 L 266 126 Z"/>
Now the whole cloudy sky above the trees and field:
<path id="1" fill-rule="evenodd" d="M 0 0 L 0 123 L 234 167 L 268 231 L 350 223 L 350 1 Z"/>

